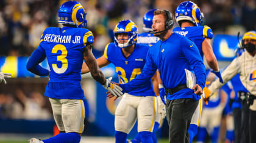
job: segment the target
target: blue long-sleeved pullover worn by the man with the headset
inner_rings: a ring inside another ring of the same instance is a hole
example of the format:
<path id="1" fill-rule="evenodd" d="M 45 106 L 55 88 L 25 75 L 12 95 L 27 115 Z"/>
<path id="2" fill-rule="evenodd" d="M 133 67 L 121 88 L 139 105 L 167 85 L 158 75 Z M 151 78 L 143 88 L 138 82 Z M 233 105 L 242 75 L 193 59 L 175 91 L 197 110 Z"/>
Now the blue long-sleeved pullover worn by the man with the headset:
<path id="1" fill-rule="evenodd" d="M 158 41 L 149 48 L 146 65 L 141 74 L 133 79 L 133 81 L 121 85 L 121 87 L 124 88 L 124 91 L 130 91 L 145 84 L 152 78 L 157 68 L 165 88 L 175 88 L 186 84 L 185 68 L 194 70 L 197 84 L 204 88 L 205 67 L 202 58 L 200 58 L 199 50 L 194 42 L 177 33 L 172 33 L 165 41 Z M 190 88 L 185 88 L 172 95 L 168 95 L 169 100 L 194 97 L 197 96 L 194 95 L 193 90 Z M 200 96 L 197 99 L 199 98 Z"/>

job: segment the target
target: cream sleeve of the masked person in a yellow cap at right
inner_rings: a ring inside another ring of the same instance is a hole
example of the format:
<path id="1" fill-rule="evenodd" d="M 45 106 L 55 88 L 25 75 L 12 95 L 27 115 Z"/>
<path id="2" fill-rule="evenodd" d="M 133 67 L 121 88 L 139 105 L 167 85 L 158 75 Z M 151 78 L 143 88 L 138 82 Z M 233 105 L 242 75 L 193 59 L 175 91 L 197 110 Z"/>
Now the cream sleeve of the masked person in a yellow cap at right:
<path id="1" fill-rule="evenodd" d="M 211 95 L 215 93 L 219 88 L 221 88 L 224 84 L 226 84 L 230 79 L 232 79 L 239 70 L 239 65 L 237 64 L 238 59 L 235 58 L 231 64 L 221 73 L 223 84 L 219 82 L 219 79 L 215 80 L 208 89 L 211 91 Z"/>

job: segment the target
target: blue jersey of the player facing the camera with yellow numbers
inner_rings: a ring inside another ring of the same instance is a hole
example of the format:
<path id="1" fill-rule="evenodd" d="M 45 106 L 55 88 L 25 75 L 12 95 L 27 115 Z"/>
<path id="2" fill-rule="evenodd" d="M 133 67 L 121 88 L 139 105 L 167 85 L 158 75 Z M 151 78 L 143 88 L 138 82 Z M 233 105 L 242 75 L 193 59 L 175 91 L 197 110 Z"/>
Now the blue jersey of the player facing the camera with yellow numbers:
<path id="1" fill-rule="evenodd" d="M 132 54 L 128 58 L 125 58 L 121 48 L 116 47 L 115 43 L 110 43 L 105 47 L 104 56 L 115 65 L 116 73 L 121 79 L 121 82 L 125 84 L 132 81 L 137 75 L 140 75 L 146 62 L 148 49 L 148 45 L 135 44 Z M 127 93 L 135 96 L 155 96 L 150 81 L 140 88 Z"/>

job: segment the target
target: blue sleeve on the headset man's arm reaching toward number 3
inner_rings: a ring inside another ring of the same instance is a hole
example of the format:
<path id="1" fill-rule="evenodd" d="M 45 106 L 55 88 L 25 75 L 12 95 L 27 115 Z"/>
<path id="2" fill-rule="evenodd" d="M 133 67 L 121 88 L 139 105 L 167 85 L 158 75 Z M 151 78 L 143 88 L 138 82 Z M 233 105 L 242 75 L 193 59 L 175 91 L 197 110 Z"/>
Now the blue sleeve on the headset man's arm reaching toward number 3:
<path id="1" fill-rule="evenodd" d="M 132 79 L 132 81 L 127 82 L 126 84 L 120 84 L 120 87 L 124 89 L 124 92 L 129 92 L 138 87 L 141 87 L 146 82 L 150 82 L 152 76 L 154 76 L 155 74 L 155 71 L 157 71 L 157 65 L 154 64 L 149 49 L 149 52 L 146 57 L 146 64 L 144 65 L 141 74 L 136 76 L 135 79 Z"/>

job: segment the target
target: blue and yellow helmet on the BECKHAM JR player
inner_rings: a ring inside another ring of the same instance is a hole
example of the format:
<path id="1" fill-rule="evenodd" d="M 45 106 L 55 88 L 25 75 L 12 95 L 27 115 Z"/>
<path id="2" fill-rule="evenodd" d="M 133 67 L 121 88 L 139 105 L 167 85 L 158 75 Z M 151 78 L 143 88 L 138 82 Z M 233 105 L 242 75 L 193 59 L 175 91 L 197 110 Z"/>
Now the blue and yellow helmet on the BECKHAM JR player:
<path id="1" fill-rule="evenodd" d="M 59 24 L 76 25 L 78 28 L 86 28 L 87 13 L 84 7 L 76 1 L 67 1 L 59 8 Z"/>

